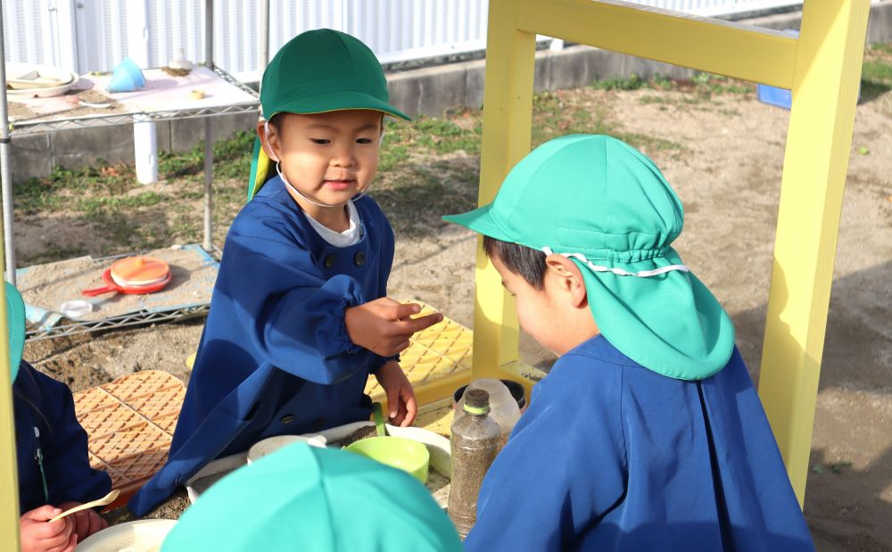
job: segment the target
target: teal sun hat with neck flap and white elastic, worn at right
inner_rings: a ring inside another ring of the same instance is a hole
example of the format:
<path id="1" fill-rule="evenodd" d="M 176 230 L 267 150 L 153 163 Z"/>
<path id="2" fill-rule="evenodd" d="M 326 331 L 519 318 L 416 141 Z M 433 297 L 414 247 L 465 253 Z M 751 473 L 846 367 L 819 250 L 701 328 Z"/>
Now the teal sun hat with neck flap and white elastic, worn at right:
<path id="1" fill-rule="evenodd" d="M 671 243 L 681 201 L 643 153 L 609 136 L 551 140 L 480 209 L 443 217 L 574 261 L 601 334 L 658 374 L 701 380 L 734 349 L 734 325 Z"/>

